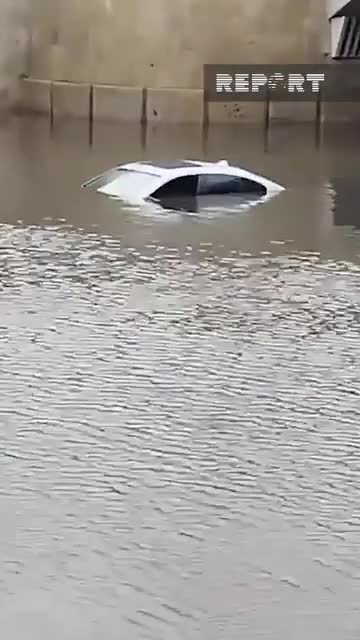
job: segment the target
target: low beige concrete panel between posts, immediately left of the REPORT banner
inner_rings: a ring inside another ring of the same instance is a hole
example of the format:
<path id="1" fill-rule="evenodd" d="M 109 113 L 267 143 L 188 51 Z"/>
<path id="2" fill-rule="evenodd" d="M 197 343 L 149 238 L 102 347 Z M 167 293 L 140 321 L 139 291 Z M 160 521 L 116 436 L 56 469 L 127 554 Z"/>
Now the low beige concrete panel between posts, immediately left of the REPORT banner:
<path id="1" fill-rule="evenodd" d="M 149 89 L 146 120 L 164 124 L 202 122 L 203 96 L 201 89 Z"/>

